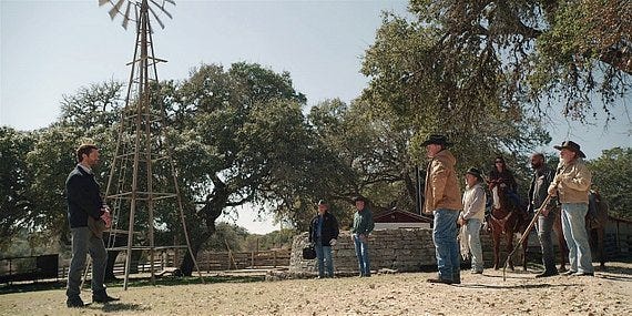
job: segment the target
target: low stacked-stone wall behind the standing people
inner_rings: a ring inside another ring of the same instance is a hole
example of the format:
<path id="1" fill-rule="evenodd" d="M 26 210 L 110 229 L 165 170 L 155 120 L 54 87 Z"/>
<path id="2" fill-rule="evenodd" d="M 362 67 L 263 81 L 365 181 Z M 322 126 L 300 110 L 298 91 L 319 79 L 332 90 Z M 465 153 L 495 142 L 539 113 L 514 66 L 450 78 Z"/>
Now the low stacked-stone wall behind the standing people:
<path id="1" fill-rule="evenodd" d="M 632 234 L 620 225 L 616 236 L 606 232 L 605 248 L 606 261 L 619 257 L 630 257 L 632 248 Z M 630 225 L 632 226 L 632 225 Z M 491 236 L 481 231 L 482 257 L 485 267 L 490 268 L 493 261 L 493 249 Z M 518 243 L 514 236 L 513 245 Z M 303 259 L 303 248 L 308 244 L 307 233 L 302 233 L 294 237 L 292 254 L 289 257 L 289 273 L 294 275 L 314 275 L 317 272 L 316 261 Z M 560 252 L 557 236 L 553 234 L 555 264 L 560 263 Z M 507 246 L 504 238 L 501 241 L 500 265 L 507 258 Z M 522 252 L 518 249 L 513 256 L 513 264 L 520 268 L 522 264 Z M 358 273 L 356 252 L 348 231 L 340 232 L 338 243 L 333 247 L 334 269 L 336 275 L 355 275 Z M 371 271 L 394 269 L 398 272 L 420 272 L 436 271 L 435 245 L 432 243 L 432 230 L 430 228 L 397 228 L 376 230 L 369 236 L 369 257 Z M 527 252 L 530 268 L 541 268 L 540 243 L 536 231 L 529 235 L 529 247 Z M 598 256 L 593 252 L 593 262 L 598 262 Z M 468 261 L 461 261 L 461 267 L 468 268 Z M 533 266 L 536 265 L 536 266 Z M 567 266 L 568 267 L 568 266 Z"/>

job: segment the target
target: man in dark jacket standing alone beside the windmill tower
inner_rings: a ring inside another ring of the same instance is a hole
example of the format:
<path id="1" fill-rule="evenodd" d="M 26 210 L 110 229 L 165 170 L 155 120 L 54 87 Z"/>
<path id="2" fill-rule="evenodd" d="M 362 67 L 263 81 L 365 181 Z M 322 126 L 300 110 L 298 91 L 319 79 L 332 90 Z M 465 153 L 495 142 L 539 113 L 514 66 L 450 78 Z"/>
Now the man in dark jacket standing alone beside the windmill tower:
<path id="1" fill-rule="evenodd" d="M 79 294 L 86 254 L 92 257 L 92 302 L 119 300 L 108 296 L 103 285 L 108 263 L 103 236 L 89 228 L 89 222 L 103 221 L 102 226 L 110 226 L 111 223 L 110 211 L 101 198 L 99 184 L 92 172 L 92 167 L 99 163 L 99 149 L 93 144 L 83 144 L 77 150 L 77 160 L 79 163 L 65 180 L 68 221 L 72 235 L 72 259 L 65 290 L 68 307 L 84 306 Z"/>

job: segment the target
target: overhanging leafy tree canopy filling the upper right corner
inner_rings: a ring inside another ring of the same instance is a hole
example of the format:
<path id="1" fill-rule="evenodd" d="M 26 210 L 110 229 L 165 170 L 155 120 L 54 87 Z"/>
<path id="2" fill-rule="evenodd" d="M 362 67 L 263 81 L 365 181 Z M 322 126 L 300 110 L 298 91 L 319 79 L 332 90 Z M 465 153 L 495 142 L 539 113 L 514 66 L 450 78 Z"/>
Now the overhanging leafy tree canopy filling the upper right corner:
<path id="1" fill-rule="evenodd" d="M 616 26 L 608 40 L 595 19 L 585 24 L 597 2 Z M 547 143 L 541 119 L 553 102 L 582 120 L 595 111 L 592 95 L 601 95 L 608 111 L 629 94 L 628 2 L 411 0 L 412 18 L 385 13 L 364 59 L 370 82 L 363 98 L 417 137 L 434 131 L 455 140 L 468 135 L 461 147 L 486 152 L 498 143 L 510 151 Z M 564 44 L 555 38 L 564 30 L 573 32 L 564 41 L 591 45 Z M 565 58 L 551 45 L 563 45 Z M 618 61 L 604 61 L 614 49 Z"/>

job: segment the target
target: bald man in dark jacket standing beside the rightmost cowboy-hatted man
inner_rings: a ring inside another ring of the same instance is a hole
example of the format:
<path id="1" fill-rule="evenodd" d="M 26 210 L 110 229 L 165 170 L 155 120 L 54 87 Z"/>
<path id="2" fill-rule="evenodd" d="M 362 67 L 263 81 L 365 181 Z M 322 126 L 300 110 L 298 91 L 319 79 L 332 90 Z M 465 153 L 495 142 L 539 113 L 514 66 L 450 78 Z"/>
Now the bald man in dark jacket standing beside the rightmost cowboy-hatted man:
<path id="1" fill-rule="evenodd" d="M 555 176 L 553 170 L 544 163 L 544 155 L 541 153 L 531 155 L 531 167 L 533 169 L 533 179 L 529 186 L 529 214 L 532 214 L 542 206 L 542 203 L 547 200 L 547 190 L 549 190 L 549 185 Z M 536 277 L 558 275 L 553 255 L 553 239 L 551 238 L 553 223 L 557 217 L 555 212 L 559 211 L 555 210 L 554 203 L 549 202 L 538 216 L 538 238 L 540 239 L 540 247 L 542 249 L 544 271 L 536 275 Z"/>

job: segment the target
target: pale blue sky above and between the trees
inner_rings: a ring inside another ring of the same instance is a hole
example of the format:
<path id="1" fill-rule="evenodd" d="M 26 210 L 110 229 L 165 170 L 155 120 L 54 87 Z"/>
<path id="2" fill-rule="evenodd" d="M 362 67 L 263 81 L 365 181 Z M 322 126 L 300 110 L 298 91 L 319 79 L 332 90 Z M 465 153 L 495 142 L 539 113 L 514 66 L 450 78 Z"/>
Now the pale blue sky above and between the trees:
<path id="1" fill-rule="evenodd" d="M 156 0 L 161 2 L 161 0 Z M 193 1 L 167 3 L 173 19 L 154 23 L 160 80 L 183 80 L 201 63 L 259 63 L 288 71 L 308 105 L 326 99 L 358 96 L 368 79 L 361 57 L 374 42 L 383 10 L 406 13 L 407 1 Z M 133 58 L 133 24 L 112 21 L 110 6 L 98 0 L 0 0 L 0 125 L 18 130 L 45 128 L 57 120 L 63 95 L 111 79 L 126 81 Z M 613 146 L 630 146 L 630 109 L 615 109 L 618 121 L 605 130 L 601 116 L 581 125 L 553 113 L 551 146 L 571 139 L 588 159 Z M 252 233 L 278 228 L 238 212 L 236 223 Z M 234 216 L 233 216 L 234 217 Z M 266 217 L 266 216 L 264 216 Z M 225 221 L 233 221 L 226 217 Z"/>

